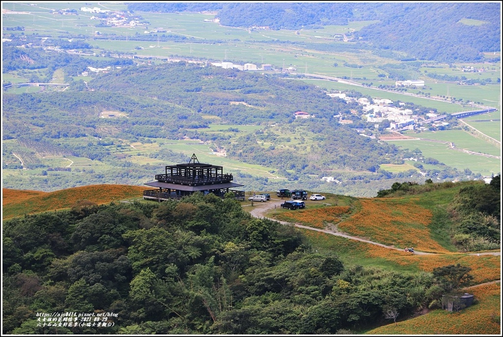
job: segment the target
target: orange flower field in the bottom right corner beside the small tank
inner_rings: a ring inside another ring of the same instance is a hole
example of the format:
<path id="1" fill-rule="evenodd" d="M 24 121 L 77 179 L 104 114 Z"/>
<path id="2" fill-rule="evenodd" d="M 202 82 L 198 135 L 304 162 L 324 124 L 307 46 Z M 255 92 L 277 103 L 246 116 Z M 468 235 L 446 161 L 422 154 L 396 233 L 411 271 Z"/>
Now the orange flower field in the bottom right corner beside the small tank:
<path id="1" fill-rule="evenodd" d="M 478 303 L 459 312 L 438 309 L 423 316 L 378 327 L 366 334 L 500 335 L 500 284 L 473 287 L 469 292 Z"/>

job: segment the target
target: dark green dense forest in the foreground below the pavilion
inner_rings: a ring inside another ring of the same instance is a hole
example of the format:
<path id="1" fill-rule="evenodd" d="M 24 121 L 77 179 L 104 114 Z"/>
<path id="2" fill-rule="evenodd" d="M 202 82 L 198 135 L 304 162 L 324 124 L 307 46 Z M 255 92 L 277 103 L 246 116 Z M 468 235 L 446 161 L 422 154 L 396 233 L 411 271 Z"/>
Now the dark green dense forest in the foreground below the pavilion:
<path id="1" fill-rule="evenodd" d="M 252 218 L 231 195 L 82 201 L 4 222 L 3 333 L 348 334 L 438 308 L 470 284 L 470 270 L 345 264 L 294 227 Z M 40 312 L 95 317 L 51 326 Z"/>

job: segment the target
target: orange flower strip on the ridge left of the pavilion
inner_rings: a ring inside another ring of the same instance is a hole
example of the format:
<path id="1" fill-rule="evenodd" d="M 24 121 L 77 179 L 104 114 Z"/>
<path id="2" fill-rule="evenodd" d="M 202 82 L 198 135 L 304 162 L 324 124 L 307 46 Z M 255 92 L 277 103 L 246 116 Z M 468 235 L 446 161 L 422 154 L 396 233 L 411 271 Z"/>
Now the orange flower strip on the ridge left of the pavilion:
<path id="1" fill-rule="evenodd" d="M 114 200 L 141 197 L 145 187 L 129 185 L 89 185 L 54 192 L 3 189 L 3 219 L 26 213 L 54 211 L 72 207 L 79 200 L 106 204 Z M 7 200 L 6 200 L 7 199 Z"/>

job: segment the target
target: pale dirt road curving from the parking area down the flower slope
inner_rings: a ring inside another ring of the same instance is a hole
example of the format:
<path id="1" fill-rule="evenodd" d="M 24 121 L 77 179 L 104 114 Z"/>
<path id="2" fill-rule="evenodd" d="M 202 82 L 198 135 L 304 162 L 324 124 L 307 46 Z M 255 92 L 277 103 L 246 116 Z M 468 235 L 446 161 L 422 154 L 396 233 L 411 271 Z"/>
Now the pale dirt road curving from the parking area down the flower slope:
<path id="1" fill-rule="evenodd" d="M 359 237 L 356 237 L 356 236 L 350 236 L 350 235 L 347 235 L 347 234 L 344 234 L 344 233 L 340 233 L 340 232 L 333 232 L 333 231 L 329 231 L 329 230 L 326 230 L 326 229 L 312 228 L 312 227 L 303 226 L 303 225 L 300 225 L 300 224 L 292 224 L 292 223 L 289 223 L 289 222 L 278 221 L 278 220 L 266 217 L 267 212 L 269 212 L 271 210 L 274 210 L 275 208 L 280 208 L 280 205 L 282 203 L 283 203 L 283 200 L 274 199 L 274 198 L 271 198 L 271 200 L 268 201 L 267 203 L 254 203 L 254 209 L 250 211 L 250 214 L 251 214 L 251 216 L 253 216 L 255 218 L 269 219 L 269 220 L 277 221 L 277 222 L 279 222 L 279 223 L 281 223 L 283 225 L 292 225 L 292 226 L 295 226 L 295 227 L 298 227 L 298 228 L 304 228 L 304 229 L 308 229 L 308 230 L 311 230 L 311 231 L 317 231 L 317 232 L 322 232 L 322 233 L 326 233 L 326 234 L 330 234 L 330 235 L 342 236 L 342 237 L 345 237 L 345 238 L 348 238 L 348 239 L 351 239 L 351 240 L 357 240 L 357 241 L 367 242 L 367 243 L 374 244 L 376 246 L 381 246 L 381 247 L 388 248 L 388 249 L 403 250 L 402 248 L 396 248 L 396 247 L 392 247 L 392 246 L 386 246 L 386 245 L 383 245 L 382 243 L 373 242 L 373 241 L 369 241 L 369 240 L 364 240 L 362 238 L 359 238 Z M 422 251 L 417 251 L 417 250 L 414 253 L 416 255 L 429 255 L 429 254 L 433 254 L 433 253 L 427 253 L 427 252 L 422 252 Z M 491 254 L 491 255 L 500 255 L 501 252 L 473 253 L 472 255 L 488 255 L 488 254 Z"/>

